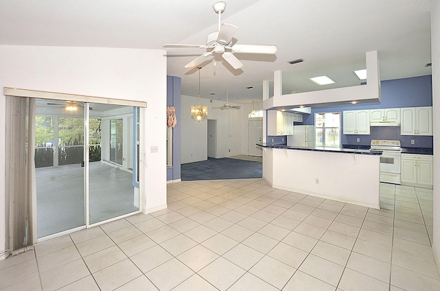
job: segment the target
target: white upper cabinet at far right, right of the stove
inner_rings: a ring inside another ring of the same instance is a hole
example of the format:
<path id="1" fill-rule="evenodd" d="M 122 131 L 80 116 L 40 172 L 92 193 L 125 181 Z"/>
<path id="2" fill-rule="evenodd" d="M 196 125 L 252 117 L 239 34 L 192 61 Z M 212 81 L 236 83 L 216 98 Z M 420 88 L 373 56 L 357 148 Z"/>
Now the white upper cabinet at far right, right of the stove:
<path id="1" fill-rule="evenodd" d="M 401 135 L 432 135 L 432 106 L 401 108 Z"/>

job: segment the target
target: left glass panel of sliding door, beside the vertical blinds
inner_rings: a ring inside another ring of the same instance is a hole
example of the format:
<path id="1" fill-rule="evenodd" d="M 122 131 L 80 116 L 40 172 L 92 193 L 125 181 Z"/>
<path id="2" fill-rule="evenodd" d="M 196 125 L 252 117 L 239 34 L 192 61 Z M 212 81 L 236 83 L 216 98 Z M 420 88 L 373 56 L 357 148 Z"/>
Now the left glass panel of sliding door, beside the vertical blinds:
<path id="1" fill-rule="evenodd" d="M 84 104 L 36 100 L 37 236 L 85 225 Z"/>

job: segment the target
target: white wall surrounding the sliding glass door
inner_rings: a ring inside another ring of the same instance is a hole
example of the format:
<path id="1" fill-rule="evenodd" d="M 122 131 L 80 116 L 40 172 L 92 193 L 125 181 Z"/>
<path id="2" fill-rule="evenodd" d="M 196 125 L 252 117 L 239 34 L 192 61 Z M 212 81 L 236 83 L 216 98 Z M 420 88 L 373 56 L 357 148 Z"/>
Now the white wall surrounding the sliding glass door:
<path id="1" fill-rule="evenodd" d="M 141 110 L 141 175 L 146 211 L 166 207 L 166 51 L 0 45 L 0 89 L 111 97 L 148 102 Z M 5 97 L 0 94 L 0 205 L 5 205 Z M 151 154 L 151 146 L 159 152 Z M 0 207 L 0 253 L 5 250 Z"/>

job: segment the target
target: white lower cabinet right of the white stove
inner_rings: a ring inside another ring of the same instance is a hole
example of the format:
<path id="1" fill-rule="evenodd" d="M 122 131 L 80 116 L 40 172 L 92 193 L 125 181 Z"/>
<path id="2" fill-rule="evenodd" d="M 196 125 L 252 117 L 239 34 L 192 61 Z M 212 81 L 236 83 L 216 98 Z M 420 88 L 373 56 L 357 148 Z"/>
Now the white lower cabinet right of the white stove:
<path id="1" fill-rule="evenodd" d="M 401 154 L 401 184 L 432 189 L 432 163 L 432 155 Z"/>

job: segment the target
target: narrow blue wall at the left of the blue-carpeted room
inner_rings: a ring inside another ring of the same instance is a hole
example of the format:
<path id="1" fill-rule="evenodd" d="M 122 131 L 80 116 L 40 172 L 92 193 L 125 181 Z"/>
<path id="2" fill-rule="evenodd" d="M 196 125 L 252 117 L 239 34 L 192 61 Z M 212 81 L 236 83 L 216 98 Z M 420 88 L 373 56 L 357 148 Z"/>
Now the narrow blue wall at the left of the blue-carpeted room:
<path id="1" fill-rule="evenodd" d="M 166 181 L 179 180 L 180 176 L 180 145 L 181 145 L 181 78 L 166 76 L 166 106 L 175 106 L 177 124 L 173 128 L 173 167 L 166 168 Z M 164 126 L 166 118 L 164 116 Z"/>

